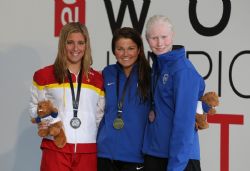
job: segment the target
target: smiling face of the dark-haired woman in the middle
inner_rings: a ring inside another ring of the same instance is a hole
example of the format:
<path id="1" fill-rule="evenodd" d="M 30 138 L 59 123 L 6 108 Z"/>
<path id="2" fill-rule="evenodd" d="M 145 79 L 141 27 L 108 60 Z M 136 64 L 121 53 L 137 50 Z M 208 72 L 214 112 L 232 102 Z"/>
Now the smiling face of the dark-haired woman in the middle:
<path id="1" fill-rule="evenodd" d="M 129 38 L 120 38 L 115 42 L 114 55 L 127 76 L 137 61 L 139 52 L 136 43 Z"/>

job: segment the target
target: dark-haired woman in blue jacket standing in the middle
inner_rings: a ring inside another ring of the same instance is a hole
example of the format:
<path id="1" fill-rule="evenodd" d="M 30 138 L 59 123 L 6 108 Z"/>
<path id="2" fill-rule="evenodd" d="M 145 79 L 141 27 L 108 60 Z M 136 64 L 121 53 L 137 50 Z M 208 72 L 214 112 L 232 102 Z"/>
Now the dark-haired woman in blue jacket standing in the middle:
<path id="1" fill-rule="evenodd" d="M 114 32 L 117 63 L 103 70 L 105 111 L 97 136 L 99 171 L 143 170 L 142 143 L 150 111 L 150 66 L 140 34 Z"/>

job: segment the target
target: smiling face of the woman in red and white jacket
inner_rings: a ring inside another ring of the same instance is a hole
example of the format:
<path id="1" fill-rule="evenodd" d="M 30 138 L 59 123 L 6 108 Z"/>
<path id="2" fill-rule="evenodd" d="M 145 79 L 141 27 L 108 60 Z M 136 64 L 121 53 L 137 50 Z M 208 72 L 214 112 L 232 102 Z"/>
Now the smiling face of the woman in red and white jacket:
<path id="1" fill-rule="evenodd" d="M 68 67 L 80 67 L 85 52 L 85 38 L 82 33 L 71 33 L 66 40 L 66 54 Z"/>

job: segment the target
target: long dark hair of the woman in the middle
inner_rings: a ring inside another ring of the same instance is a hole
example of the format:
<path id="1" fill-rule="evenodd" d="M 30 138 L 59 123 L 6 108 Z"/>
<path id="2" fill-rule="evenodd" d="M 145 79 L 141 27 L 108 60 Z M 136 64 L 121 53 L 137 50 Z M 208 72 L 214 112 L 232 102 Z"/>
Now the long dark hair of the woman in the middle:
<path id="1" fill-rule="evenodd" d="M 131 39 L 140 50 L 138 54 L 138 91 L 142 101 L 150 98 L 150 65 L 144 53 L 143 42 L 140 33 L 130 27 L 117 29 L 112 38 L 112 52 L 115 53 L 115 44 L 121 38 Z"/>

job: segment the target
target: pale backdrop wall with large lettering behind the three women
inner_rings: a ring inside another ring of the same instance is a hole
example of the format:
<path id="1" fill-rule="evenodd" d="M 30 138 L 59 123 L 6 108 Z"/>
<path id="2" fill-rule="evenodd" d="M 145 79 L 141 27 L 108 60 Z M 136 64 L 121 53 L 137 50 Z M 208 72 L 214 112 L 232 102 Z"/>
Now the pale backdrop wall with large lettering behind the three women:
<path id="1" fill-rule="evenodd" d="M 121 1 L 106 1 L 112 3 L 116 20 Z M 135 4 L 139 18 L 142 5 L 147 0 L 131 1 Z M 111 50 L 112 37 L 104 0 L 86 0 L 86 2 L 64 0 L 64 2 L 73 3 L 73 5 L 86 3 L 84 8 L 86 11 L 79 15 L 85 15 L 90 32 L 93 67 L 101 70 L 107 64 L 107 51 Z M 192 27 L 188 13 L 189 1 L 151 0 L 149 2 L 148 12 L 144 14 L 146 19 L 153 14 L 169 16 L 175 26 L 175 43 L 185 45 L 188 51 L 204 52 L 212 60 L 213 67 L 206 79 L 206 90 L 220 93 L 221 105 L 218 113 L 227 115 L 222 121 L 218 121 L 223 123 L 222 127 L 221 124 L 211 123 L 208 130 L 200 132 L 202 170 L 249 170 L 250 1 L 231 0 L 229 22 L 222 32 L 214 36 L 201 35 Z M 34 71 L 54 62 L 58 41 L 54 36 L 54 23 L 60 21 L 60 18 L 55 17 L 58 4 L 59 0 L 0 1 L 1 171 L 39 170 L 40 138 L 37 136 L 36 126 L 29 121 L 29 87 Z M 222 17 L 222 11 L 222 0 L 198 0 L 198 20 L 205 27 L 215 26 Z M 68 15 L 64 18 L 68 18 Z M 132 26 L 128 8 L 126 8 L 122 26 Z M 143 37 L 144 31 L 145 29 L 142 32 Z M 148 49 L 145 41 L 145 50 Z M 241 52 L 242 55 L 237 57 Z M 203 76 L 207 75 L 211 66 L 204 53 L 189 55 Z M 110 55 L 110 63 L 114 62 L 114 57 Z M 232 65 L 231 74 L 230 65 Z M 233 86 L 230 84 L 230 78 Z M 230 119 L 233 118 L 231 116 L 239 116 L 242 121 L 239 121 L 239 124 L 233 124 L 235 120 L 231 121 Z M 230 125 L 227 125 L 227 122 Z M 222 142 L 227 142 L 224 138 L 229 138 L 229 144 L 221 144 L 222 137 Z M 227 145 L 228 150 L 225 148 Z"/>

